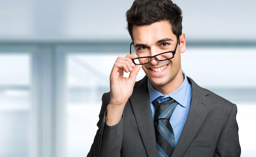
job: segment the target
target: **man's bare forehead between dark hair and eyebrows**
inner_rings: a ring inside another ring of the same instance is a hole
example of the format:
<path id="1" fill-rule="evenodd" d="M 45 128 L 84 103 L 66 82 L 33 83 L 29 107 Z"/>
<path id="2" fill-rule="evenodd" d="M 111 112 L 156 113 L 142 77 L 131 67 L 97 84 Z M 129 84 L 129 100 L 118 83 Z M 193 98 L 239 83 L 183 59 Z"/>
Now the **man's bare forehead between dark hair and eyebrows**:
<path id="1" fill-rule="evenodd" d="M 164 38 L 174 39 L 171 24 L 168 21 L 155 22 L 151 25 L 133 26 L 132 36 L 134 43 L 156 43 Z"/>

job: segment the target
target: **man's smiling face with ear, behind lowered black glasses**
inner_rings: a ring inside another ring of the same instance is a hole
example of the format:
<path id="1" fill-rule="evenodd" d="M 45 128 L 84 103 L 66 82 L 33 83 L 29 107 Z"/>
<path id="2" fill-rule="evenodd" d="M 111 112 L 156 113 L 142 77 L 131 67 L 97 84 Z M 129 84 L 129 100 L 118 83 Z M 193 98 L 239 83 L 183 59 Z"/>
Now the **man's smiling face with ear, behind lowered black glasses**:
<path id="1" fill-rule="evenodd" d="M 177 37 L 173 34 L 171 24 L 168 21 L 155 22 L 151 25 L 133 26 L 132 32 L 138 57 L 155 56 L 163 52 L 173 51 L 177 44 Z M 162 94 L 173 92 L 184 80 L 180 61 L 181 46 L 183 46 L 182 52 L 186 49 L 184 48 L 184 42 L 185 35 L 182 34 L 180 36 L 181 44 L 177 45 L 174 58 L 166 61 L 157 61 L 155 58 L 152 58 L 150 63 L 142 65 L 150 83 Z"/>

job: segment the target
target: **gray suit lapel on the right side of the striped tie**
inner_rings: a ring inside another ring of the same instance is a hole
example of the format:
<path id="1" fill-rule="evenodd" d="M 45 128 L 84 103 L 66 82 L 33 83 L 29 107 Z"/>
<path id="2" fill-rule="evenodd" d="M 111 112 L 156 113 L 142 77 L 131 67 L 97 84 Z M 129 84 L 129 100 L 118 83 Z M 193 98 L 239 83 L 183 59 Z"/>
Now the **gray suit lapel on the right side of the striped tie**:
<path id="1" fill-rule="evenodd" d="M 198 85 L 190 79 L 189 82 L 192 84 L 192 99 L 189 115 L 171 157 L 182 157 L 184 155 L 209 112 L 208 105 L 211 103 L 210 100 L 207 99 L 206 94 L 202 94 L 199 91 L 200 87 Z"/>

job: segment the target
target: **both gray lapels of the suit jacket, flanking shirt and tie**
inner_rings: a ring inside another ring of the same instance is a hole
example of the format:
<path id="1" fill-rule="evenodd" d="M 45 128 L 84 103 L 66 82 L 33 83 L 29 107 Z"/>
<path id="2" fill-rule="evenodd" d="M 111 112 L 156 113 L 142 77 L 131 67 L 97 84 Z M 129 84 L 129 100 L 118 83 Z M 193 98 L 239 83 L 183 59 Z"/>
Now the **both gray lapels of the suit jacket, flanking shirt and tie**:
<path id="1" fill-rule="evenodd" d="M 195 138 L 198 130 L 202 126 L 204 119 L 209 112 L 208 104 L 211 101 L 206 97 L 209 93 L 202 90 L 191 78 L 187 77 L 192 85 L 192 99 L 189 115 L 182 130 L 180 139 L 175 147 L 172 157 L 182 157 Z M 135 83 L 133 94 L 130 97 L 130 103 L 135 115 L 137 126 L 144 143 L 148 157 L 155 157 L 157 154 L 155 128 L 152 120 L 150 101 L 147 87 L 148 78 Z"/>

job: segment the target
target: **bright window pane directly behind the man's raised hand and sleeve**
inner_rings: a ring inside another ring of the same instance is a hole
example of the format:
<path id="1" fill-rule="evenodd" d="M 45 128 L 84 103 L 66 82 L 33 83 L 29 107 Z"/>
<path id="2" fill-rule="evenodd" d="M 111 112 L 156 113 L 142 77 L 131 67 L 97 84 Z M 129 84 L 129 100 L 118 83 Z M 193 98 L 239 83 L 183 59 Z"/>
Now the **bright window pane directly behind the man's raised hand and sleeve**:
<path id="1" fill-rule="evenodd" d="M 66 157 L 83 157 L 89 152 L 98 129 L 96 124 L 101 109 L 101 96 L 110 90 L 112 66 L 117 56 L 126 55 L 123 47 L 112 47 L 107 51 L 104 49 L 105 44 L 92 49 L 88 47 L 57 49 L 58 58 L 63 59 L 61 69 L 57 71 L 64 70 L 61 76 L 64 76 L 65 91 L 65 102 L 59 109 L 63 111 L 60 117 L 63 136 L 59 138 L 62 141 L 60 150 L 63 150 Z M 144 72 L 141 70 L 137 79 L 142 77 Z"/>

